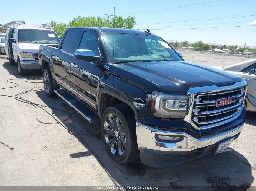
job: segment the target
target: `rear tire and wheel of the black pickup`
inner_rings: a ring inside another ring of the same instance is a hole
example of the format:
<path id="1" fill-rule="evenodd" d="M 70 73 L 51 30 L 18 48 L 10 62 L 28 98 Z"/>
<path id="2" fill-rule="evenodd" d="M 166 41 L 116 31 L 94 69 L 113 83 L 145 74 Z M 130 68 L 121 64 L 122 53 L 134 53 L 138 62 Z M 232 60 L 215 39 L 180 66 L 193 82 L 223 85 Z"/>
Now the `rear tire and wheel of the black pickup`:
<path id="1" fill-rule="evenodd" d="M 43 74 L 43 80 L 44 80 L 45 94 L 48 97 L 56 96 L 54 90 L 56 90 L 58 88 L 54 87 L 52 73 L 51 73 L 50 68 L 45 68 L 44 74 Z"/>

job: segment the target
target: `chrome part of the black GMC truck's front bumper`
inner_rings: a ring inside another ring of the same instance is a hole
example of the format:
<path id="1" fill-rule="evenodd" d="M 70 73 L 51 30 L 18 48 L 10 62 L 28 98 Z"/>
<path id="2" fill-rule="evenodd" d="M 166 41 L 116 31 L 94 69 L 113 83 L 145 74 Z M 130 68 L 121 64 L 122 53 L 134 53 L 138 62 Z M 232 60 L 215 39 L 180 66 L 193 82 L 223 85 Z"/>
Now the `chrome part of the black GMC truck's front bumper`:
<path id="1" fill-rule="evenodd" d="M 138 148 L 141 151 L 152 151 L 157 152 L 169 151 L 169 154 L 183 154 L 184 152 L 192 151 L 197 148 L 202 148 L 224 140 L 228 137 L 233 137 L 240 133 L 243 129 L 243 125 L 238 126 L 230 131 L 223 132 L 218 135 L 214 135 L 208 138 L 197 139 L 188 135 L 185 132 L 170 132 L 154 129 L 146 126 L 140 122 L 136 122 L 136 133 Z M 167 135 L 167 136 L 179 136 L 181 137 L 177 141 L 164 141 L 156 140 L 155 136 Z M 166 153 L 165 153 L 166 154 Z"/>

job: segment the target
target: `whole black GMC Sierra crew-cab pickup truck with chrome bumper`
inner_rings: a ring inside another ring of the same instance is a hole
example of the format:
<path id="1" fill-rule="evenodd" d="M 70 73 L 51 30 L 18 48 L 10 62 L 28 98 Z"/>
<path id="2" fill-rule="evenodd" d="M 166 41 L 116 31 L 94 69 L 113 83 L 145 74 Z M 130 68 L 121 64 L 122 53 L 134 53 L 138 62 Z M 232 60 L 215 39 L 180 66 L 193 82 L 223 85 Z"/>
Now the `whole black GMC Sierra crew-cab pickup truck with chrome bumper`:
<path id="1" fill-rule="evenodd" d="M 68 28 L 40 45 L 48 97 L 58 95 L 90 123 L 101 121 L 109 156 L 170 167 L 229 151 L 243 128 L 243 78 L 185 62 L 149 30 Z"/>

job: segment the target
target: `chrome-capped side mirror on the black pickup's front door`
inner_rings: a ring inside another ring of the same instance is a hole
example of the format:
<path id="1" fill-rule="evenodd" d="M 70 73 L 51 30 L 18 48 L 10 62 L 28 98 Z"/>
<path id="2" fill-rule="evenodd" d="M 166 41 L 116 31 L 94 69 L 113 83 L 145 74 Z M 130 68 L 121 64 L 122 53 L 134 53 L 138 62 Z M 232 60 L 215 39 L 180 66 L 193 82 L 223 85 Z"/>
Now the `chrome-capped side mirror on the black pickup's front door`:
<path id="1" fill-rule="evenodd" d="M 92 50 L 84 50 L 84 49 L 75 50 L 74 58 L 76 60 L 93 62 L 96 65 L 100 65 L 101 63 L 101 57 L 95 56 Z"/>

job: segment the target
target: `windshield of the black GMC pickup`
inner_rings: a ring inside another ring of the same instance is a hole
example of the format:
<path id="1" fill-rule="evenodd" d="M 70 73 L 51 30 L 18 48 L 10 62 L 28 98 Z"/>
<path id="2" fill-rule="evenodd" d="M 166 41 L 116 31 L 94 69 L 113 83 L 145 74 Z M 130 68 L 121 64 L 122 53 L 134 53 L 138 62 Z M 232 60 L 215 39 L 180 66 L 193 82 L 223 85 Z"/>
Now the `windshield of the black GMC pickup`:
<path id="1" fill-rule="evenodd" d="M 103 35 L 110 60 L 114 57 L 114 63 L 122 61 L 182 60 L 160 37 L 117 33 L 115 35 L 113 33 Z"/>

